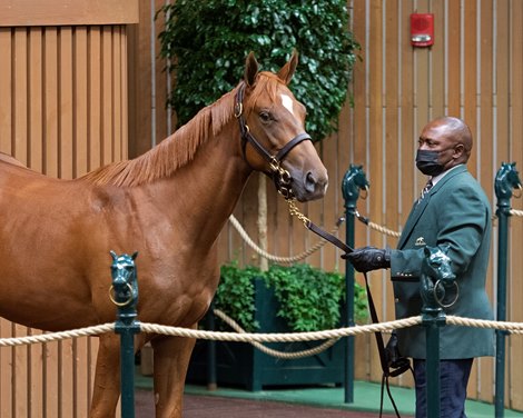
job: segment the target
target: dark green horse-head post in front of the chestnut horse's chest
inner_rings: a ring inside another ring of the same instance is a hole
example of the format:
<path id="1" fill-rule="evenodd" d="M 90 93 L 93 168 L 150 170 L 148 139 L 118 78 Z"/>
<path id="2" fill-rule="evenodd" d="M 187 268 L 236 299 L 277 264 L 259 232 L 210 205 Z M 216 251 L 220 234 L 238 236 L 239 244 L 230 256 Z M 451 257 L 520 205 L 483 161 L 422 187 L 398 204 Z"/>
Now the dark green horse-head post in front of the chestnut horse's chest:
<path id="1" fill-rule="evenodd" d="M 110 298 L 118 307 L 115 332 L 120 335 L 121 417 L 135 418 L 135 335 L 140 332 L 136 320 L 138 281 L 132 256 L 117 256 L 111 251 L 112 286 Z"/>

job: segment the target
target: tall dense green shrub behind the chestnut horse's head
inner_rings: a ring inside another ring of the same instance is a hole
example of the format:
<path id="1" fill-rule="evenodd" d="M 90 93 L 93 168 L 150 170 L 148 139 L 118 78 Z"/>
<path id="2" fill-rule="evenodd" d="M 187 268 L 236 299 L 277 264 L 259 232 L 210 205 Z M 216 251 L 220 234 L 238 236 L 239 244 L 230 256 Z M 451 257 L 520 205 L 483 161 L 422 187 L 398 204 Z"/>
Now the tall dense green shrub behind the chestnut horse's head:
<path id="1" fill-rule="evenodd" d="M 296 49 L 292 90 L 308 109 L 307 131 L 320 140 L 336 129 L 358 49 L 346 0 L 176 0 L 160 12 L 160 54 L 175 73 L 169 104 L 179 125 L 238 83 L 250 51 L 262 69 L 277 71 Z"/>

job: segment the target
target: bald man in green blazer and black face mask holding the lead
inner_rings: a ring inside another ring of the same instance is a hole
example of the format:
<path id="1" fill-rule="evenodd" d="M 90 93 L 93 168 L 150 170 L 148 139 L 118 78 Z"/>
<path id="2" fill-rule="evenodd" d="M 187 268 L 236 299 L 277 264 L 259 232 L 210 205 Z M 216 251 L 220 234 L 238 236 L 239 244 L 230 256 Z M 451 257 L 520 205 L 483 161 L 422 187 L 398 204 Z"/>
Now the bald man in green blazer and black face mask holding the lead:
<path id="1" fill-rule="evenodd" d="M 396 250 L 364 247 L 344 257 L 358 271 L 391 268 L 396 318 L 422 311 L 420 276 L 424 247 L 448 246 L 458 296 L 447 315 L 492 319 L 485 292 L 491 242 L 490 202 L 466 169 L 472 133 L 457 118 L 430 122 L 418 140 L 416 167 L 428 176 L 424 195 L 412 208 Z M 452 291 L 453 287 L 448 290 Z M 416 418 L 426 417 L 425 329 L 397 331 L 403 356 L 413 358 Z M 466 385 L 474 357 L 494 355 L 494 332 L 489 329 L 441 328 L 441 417 L 465 417 Z"/>

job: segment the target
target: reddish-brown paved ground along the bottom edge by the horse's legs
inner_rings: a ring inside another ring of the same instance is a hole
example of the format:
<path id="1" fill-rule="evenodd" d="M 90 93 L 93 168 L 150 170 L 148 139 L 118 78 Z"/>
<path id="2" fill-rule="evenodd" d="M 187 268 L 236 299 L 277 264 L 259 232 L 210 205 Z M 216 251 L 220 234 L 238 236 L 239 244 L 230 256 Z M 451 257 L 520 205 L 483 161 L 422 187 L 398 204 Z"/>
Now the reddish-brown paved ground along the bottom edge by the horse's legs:
<path id="1" fill-rule="evenodd" d="M 152 418 L 154 398 L 150 390 L 135 392 L 136 418 Z M 184 418 L 371 418 L 378 414 L 355 412 L 273 402 L 220 398 L 217 396 L 186 395 L 184 397 Z M 393 417 L 384 415 L 383 417 Z"/>

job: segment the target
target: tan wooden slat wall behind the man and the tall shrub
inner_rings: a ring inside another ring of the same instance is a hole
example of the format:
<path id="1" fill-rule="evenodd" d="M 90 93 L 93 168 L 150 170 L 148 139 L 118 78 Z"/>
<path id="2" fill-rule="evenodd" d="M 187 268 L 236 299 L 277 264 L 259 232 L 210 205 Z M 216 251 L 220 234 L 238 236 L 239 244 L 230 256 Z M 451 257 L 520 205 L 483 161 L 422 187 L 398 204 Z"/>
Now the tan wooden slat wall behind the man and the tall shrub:
<path id="1" fill-rule="evenodd" d="M 165 3 L 156 1 L 156 9 Z M 401 230 L 413 200 L 417 197 L 423 176 L 414 166 L 417 136 L 432 118 L 457 116 L 471 126 L 475 146 L 470 161 L 471 171 L 478 178 L 495 210 L 494 176 L 502 161 L 523 166 L 523 1 L 519 0 L 348 0 L 352 30 L 362 46 L 362 60 L 354 69 L 348 104 L 341 115 L 339 132 L 317 145 L 329 171 L 330 187 L 322 201 L 303 207 L 315 222 L 332 229 L 343 213 L 341 181 L 348 165 L 363 163 L 371 181 L 367 200 L 359 201 L 359 211 L 374 222 Z M 432 12 L 435 16 L 435 44 L 413 49 L 409 43 L 409 14 Z M 135 94 L 130 111 L 136 112 L 130 128 L 130 149 L 139 155 L 150 147 L 151 115 L 157 142 L 166 137 L 172 125 L 164 108 L 169 81 L 161 70 L 165 63 L 156 59 L 156 90 L 151 94 L 149 2 L 140 2 L 140 24 L 136 28 Z M 318 22 L 320 24 L 320 22 Z M 156 34 L 161 22 L 156 22 Z M 156 42 L 156 48 L 158 44 Z M 157 56 L 157 53 L 155 54 Z M 238 62 L 238 66 L 241 66 Z M 303 70 L 299 66 L 297 71 Z M 155 106 L 151 106 L 155 98 Z M 235 210 L 250 236 L 256 239 L 258 177 L 253 176 Z M 317 241 L 299 222 L 290 219 L 285 202 L 267 182 L 268 248 L 278 256 L 298 253 Z M 522 209 L 522 200 L 513 207 Z M 496 231 L 493 233 L 489 271 L 489 295 L 496 293 Z M 343 228 L 339 236 L 344 237 Z M 373 243 L 394 247 L 396 239 L 356 225 L 357 246 Z M 523 220 L 511 221 L 511 268 L 509 320 L 523 321 L 523 289 L 519 275 L 523 258 Z M 220 259 L 238 259 L 243 263 L 258 262 L 258 257 L 228 225 L 220 237 Z M 326 246 L 307 262 L 344 271 L 338 251 Z M 362 279 L 356 278 L 357 281 Z M 392 287 L 386 273 L 374 272 L 371 283 L 383 320 L 394 319 Z M 514 372 L 523 356 L 521 337 L 509 337 L 506 368 L 506 406 L 523 410 L 523 376 Z M 374 340 L 356 339 L 358 361 L 356 377 L 378 381 L 381 378 Z M 475 362 L 468 394 L 471 398 L 493 400 L 494 361 Z M 399 385 L 412 385 L 404 376 Z"/>

